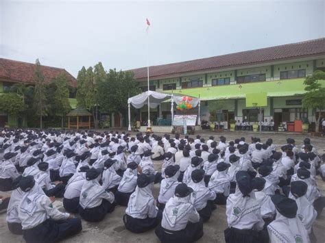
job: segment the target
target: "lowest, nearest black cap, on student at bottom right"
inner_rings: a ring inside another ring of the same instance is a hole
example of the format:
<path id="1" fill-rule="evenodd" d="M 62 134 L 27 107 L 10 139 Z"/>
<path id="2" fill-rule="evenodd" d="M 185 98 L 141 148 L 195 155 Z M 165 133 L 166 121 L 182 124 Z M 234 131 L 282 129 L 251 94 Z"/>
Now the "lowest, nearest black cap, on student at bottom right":
<path id="1" fill-rule="evenodd" d="M 296 217 L 298 210 L 296 201 L 280 194 L 275 194 L 271 196 L 271 200 L 280 214 L 287 218 Z"/>

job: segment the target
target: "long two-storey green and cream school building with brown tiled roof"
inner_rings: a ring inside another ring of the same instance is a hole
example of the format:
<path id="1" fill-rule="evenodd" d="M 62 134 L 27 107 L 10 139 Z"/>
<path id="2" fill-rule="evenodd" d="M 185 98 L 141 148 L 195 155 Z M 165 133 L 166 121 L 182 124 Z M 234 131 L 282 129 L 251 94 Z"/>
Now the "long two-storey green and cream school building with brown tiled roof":
<path id="1" fill-rule="evenodd" d="M 222 108 L 217 111 L 217 120 L 226 122 L 230 119 L 256 122 L 258 107 L 246 107 L 245 97 L 266 92 L 263 120 L 273 119 L 277 128 L 282 122 L 309 118 L 315 126 L 312 110 L 302 107 L 302 97 L 306 92 L 304 79 L 317 69 L 325 71 L 325 38 L 150 66 L 149 89 L 200 97 L 201 120 L 209 120 L 209 103 L 220 101 Z M 132 71 L 146 91 L 147 67 Z M 320 115 L 325 117 L 325 111 Z M 141 120 L 147 119 L 147 107 L 143 107 L 139 116 Z M 169 103 L 152 110 L 150 116 L 151 120 L 157 116 L 169 120 Z"/>

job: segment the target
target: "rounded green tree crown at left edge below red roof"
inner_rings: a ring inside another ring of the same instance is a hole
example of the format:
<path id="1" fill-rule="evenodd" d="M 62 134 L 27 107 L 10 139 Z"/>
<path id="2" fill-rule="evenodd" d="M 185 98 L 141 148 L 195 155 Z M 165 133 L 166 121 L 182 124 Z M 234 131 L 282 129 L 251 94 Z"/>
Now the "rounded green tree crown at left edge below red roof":
<path id="1" fill-rule="evenodd" d="M 19 94 L 4 93 L 0 95 L 0 110 L 11 115 L 17 115 L 25 109 L 25 104 Z"/>

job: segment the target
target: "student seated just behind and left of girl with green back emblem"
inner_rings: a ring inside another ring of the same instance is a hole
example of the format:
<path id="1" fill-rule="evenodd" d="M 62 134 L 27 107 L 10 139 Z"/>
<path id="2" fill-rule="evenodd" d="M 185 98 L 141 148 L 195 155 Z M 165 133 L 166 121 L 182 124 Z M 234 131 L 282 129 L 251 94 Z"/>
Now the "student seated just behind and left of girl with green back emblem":
<path id="1" fill-rule="evenodd" d="M 230 164 L 220 162 L 217 164 L 217 170 L 213 173 L 208 183 L 208 188 L 217 195 L 215 203 L 218 205 L 226 205 L 227 198 L 230 194 L 230 180 L 227 170 Z"/>

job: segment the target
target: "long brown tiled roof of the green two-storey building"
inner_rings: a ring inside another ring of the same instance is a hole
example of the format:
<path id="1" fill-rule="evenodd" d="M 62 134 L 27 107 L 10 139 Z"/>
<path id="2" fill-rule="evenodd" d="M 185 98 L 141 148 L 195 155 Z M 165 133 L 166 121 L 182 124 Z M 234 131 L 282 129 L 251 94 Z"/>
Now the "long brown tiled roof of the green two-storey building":
<path id="1" fill-rule="evenodd" d="M 293 44 L 283 44 L 276 47 L 267 47 L 252 51 L 241 51 L 186 62 L 150 66 L 149 77 L 150 79 L 159 79 L 167 77 L 168 75 L 178 75 L 195 71 L 212 71 L 221 68 L 247 66 L 322 54 L 325 54 L 325 38 Z M 133 71 L 136 79 L 147 78 L 147 67 L 135 68 L 130 71 Z"/>

